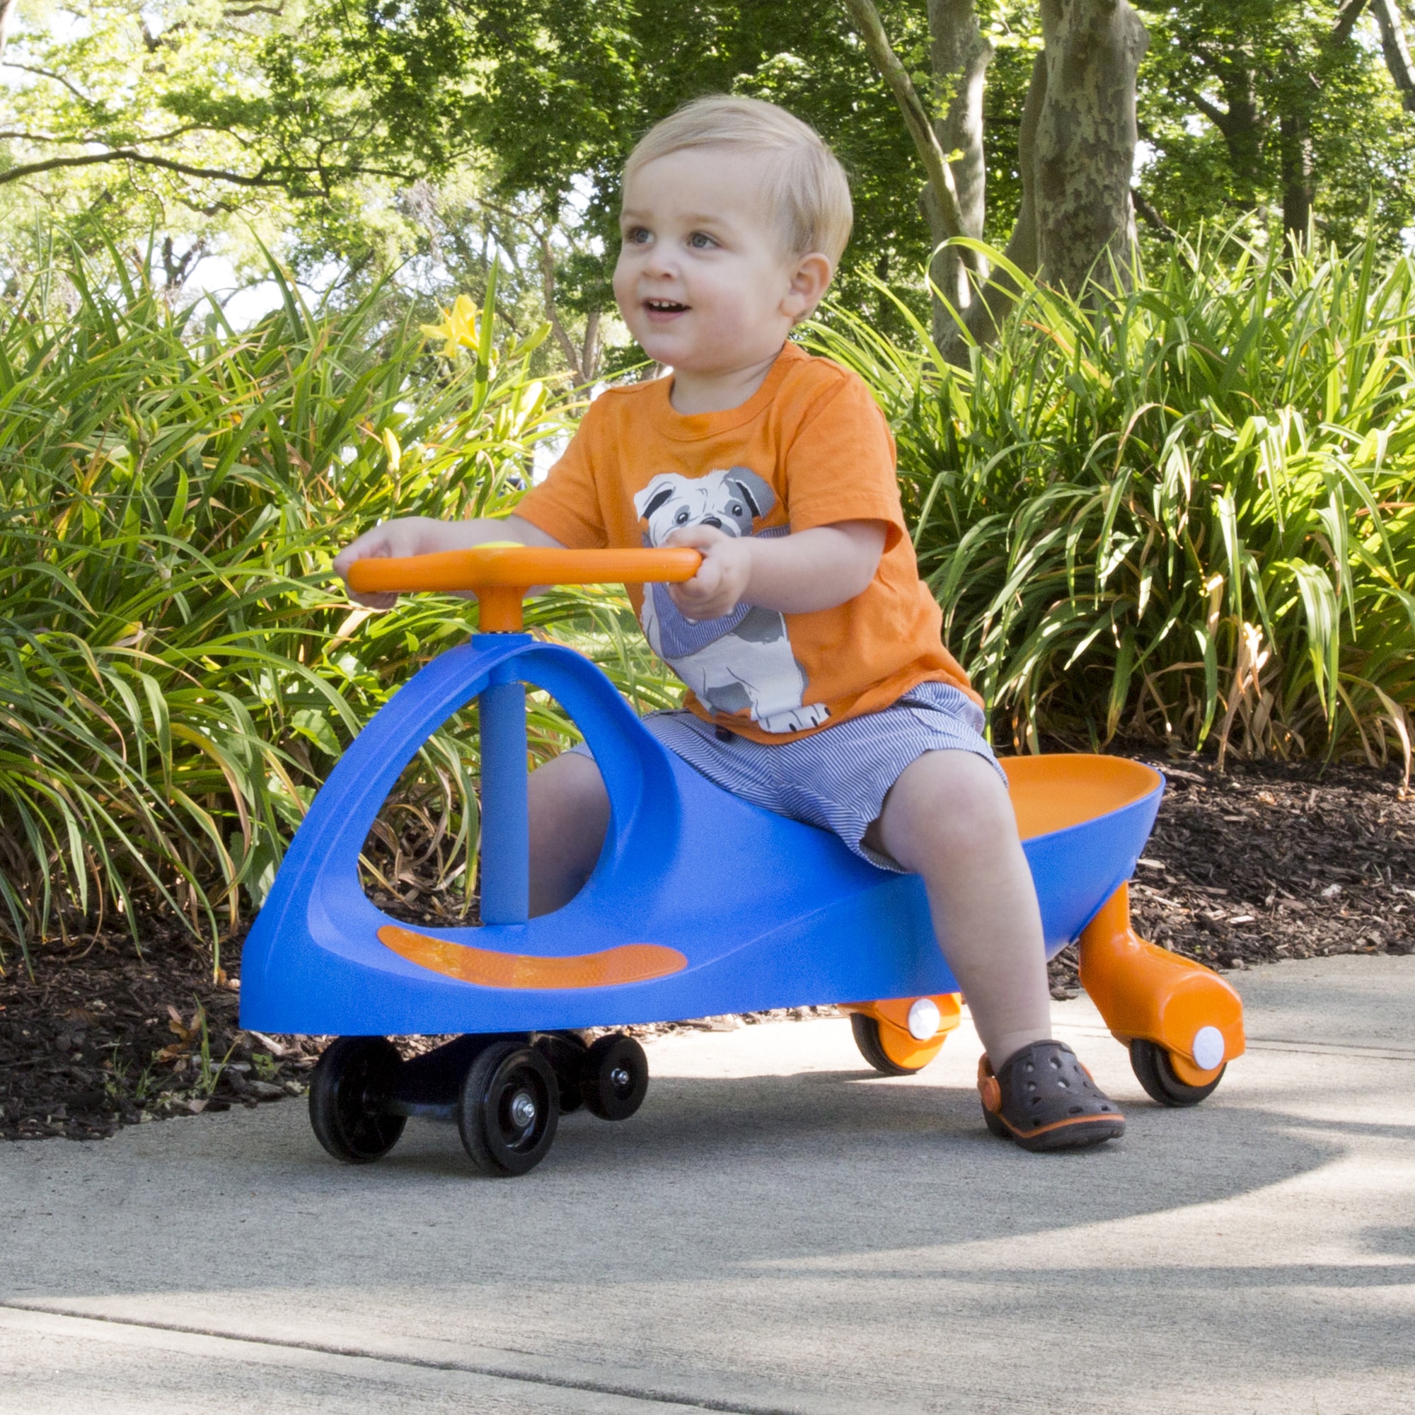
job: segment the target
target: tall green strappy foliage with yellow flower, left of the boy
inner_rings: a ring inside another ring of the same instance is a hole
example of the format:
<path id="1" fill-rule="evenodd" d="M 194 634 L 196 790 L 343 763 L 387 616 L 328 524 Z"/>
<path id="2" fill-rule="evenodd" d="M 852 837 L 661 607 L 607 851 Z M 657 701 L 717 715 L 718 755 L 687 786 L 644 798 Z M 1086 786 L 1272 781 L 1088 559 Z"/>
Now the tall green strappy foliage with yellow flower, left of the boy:
<path id="1" fill-rule="evenodd" d="M 132 918 L 143 891 L 214 932 L 350 736 L 475 623 L 450 597 L 351 613 L 334 549 L 508 508 L 558 409 L 490 317 L 449 362 L 289 286 L 238 334 L 120 266 L 68 277 L 72 317 L 42 282 L 0 334 L 0 925 Z M 422 756 L 467 849 L 473 768 L 454 733 Z"/>

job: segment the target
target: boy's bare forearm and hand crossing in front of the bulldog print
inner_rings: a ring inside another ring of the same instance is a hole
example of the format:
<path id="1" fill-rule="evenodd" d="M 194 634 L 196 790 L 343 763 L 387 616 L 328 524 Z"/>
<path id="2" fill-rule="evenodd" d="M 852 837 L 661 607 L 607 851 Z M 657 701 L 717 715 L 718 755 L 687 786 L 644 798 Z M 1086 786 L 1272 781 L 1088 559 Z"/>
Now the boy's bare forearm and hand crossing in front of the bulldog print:
<path id="1" fill-rule="evenodd" d="M 666 543 L 700 550 L 703 563 L 668 593 L 692 620 L 720 618 L 741 603 L 782 614 L 831 610 L 874 579 L 886 532 L 883 521 L 836 521 L 771 539 L 688 526 Z"/>

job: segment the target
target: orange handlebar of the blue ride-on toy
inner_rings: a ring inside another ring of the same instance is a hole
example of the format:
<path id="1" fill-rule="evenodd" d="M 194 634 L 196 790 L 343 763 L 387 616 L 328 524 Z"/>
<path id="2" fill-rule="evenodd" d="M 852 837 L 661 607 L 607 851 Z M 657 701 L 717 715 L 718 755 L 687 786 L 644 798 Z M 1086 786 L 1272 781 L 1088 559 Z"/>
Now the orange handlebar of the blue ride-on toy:
<path id="1" fill-rule="evenodd" d="M 350 566 L 359 594 L 409 590 L 473 590 L 481 601 L 483 634 L 515 634 L 521 601 L 532 584 L 645 584 L 691 580 L 696 550 L 550 550 L 492 542 L 468 550 L 440 550 L 403 559 L 371 558 Z"/>

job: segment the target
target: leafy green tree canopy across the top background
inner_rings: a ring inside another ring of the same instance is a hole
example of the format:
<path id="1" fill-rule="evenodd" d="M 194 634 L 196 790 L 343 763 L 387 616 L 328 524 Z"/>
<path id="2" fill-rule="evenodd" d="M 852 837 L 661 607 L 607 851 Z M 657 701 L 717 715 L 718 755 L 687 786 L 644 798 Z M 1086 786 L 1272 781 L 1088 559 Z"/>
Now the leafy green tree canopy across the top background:
<path id="1" fill-rule="evenodd" d="M 1138 174 L 1150 229 L 1286 212 L 1339 241 L 1374 200 L 1387 245 L 1415 221 L 1415 69 L 1404 0 L 1136 0 Z M 504 291 L 545 308 L 556 347 L 591 372 L 611 310 L 618 173 L 679 103 L 741 92 L 784 103 L 841 154 L 856 201 L 841 297 L 897 316 L 869 283 L 916 293 L 931 246 L 924 171 L 839 0 L 25 0 L 0 88 L 0 216 L 58 221 L 81 245 L 171 239 L 168 276 L 214 245 L 354 284 Z M 924 103 L 952 99 L 930 61 L 925 0 L 884 0 L 894 52 Z M 1017 133 L 1037 0 L 978 0 L 992 47 L 986 226 L 1020 197 Z M 1404 58 L 1402 58 L 1404 57 Z M 1404 76 L 1402 76 L 1404 75 Z M 14 266 L 16 238 L 0 260 Z M 184 249 L 185 246 L 185 249 Z M 412 262 L 408 265 L 408 262 Z"/>

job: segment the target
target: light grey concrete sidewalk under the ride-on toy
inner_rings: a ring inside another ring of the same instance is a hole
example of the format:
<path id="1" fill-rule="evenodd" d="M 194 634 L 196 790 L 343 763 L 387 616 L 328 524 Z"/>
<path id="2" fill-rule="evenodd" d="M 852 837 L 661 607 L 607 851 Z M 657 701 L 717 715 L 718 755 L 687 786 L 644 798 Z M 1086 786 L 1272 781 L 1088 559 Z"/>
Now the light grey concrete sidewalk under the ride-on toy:
<path id="1" fill-rule="evenodd" d="M 982 1128 L 976 1041 L 874 1080 L 843 1022 L 651 1044 L 624 1125 L 344 1169 L 303 1104 L 0 1149 L 13 1412 L 1415 1409 L 1415 957 L 1232 979 L 1249 1054 L 1122 1142 Z"/>

